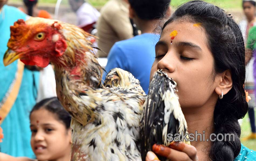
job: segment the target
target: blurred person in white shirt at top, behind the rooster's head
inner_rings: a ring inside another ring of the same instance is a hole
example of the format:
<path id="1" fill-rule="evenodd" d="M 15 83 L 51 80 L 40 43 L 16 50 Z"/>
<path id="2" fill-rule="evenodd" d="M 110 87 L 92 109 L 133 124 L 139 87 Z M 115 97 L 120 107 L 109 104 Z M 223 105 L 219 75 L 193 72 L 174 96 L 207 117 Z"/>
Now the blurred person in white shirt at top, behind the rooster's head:
<path id="1" fill-rule="evenodd" d="M 69 0 L 72 10 L 77 14 L 78 27 L 91 33 L 99 19 L 99 11 L 84 0 Z"/>

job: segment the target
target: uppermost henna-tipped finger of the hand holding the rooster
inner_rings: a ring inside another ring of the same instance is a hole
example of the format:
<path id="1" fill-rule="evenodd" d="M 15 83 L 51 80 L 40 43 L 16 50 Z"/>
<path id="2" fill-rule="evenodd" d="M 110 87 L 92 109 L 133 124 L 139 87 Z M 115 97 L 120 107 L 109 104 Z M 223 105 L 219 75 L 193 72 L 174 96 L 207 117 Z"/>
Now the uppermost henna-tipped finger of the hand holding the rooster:
<path id="1" fill-rule="evenodd" d="M 186 153 L 192 160 L 198 160 L 196 148 L 192 145 L 185 144 L 184 142 L 173 141 L 169 145 L 169 148 Z"/>

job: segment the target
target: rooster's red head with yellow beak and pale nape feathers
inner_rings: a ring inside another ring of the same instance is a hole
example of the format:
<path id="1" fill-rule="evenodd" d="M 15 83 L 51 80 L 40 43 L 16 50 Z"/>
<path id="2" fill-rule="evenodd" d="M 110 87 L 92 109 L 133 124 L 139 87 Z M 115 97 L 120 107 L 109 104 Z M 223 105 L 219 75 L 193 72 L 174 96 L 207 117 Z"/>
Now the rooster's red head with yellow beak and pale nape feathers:
<path id="1" fill-rule="evenodd" d="M 49 62 L 68 65 L 92 49 L 88 37 L 80 28 L 57 20 L 31 17 L 11 26 L 11 38 L 4 55 L 4 65 L 16 59 L 26 65 L 46 67 Z"/>

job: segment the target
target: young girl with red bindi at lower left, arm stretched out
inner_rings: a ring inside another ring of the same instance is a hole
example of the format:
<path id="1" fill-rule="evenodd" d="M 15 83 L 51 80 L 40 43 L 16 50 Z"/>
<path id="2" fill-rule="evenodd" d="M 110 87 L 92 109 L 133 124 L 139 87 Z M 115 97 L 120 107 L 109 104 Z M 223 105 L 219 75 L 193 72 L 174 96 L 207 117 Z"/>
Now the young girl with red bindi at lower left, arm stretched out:
<path id="1" fill-rule="evenodd" d="M 30 112 L 31 147 L 38 161 L 70 161 L 71 116 L 57 97 L 37 103 Z M 1 161 L 33 161 L 0 153 Z"/>

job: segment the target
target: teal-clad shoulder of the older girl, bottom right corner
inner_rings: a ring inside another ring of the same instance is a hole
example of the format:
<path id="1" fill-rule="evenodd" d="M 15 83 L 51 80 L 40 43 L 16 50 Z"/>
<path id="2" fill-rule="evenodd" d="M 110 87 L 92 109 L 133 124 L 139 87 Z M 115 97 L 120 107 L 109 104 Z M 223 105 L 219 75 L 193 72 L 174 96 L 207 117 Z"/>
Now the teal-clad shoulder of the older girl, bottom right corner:
<path id="1" fill-rule="evenodd" d="M 256 161 L 256 152 L 241 144 L 241 151 L 234 161 Z"/>

